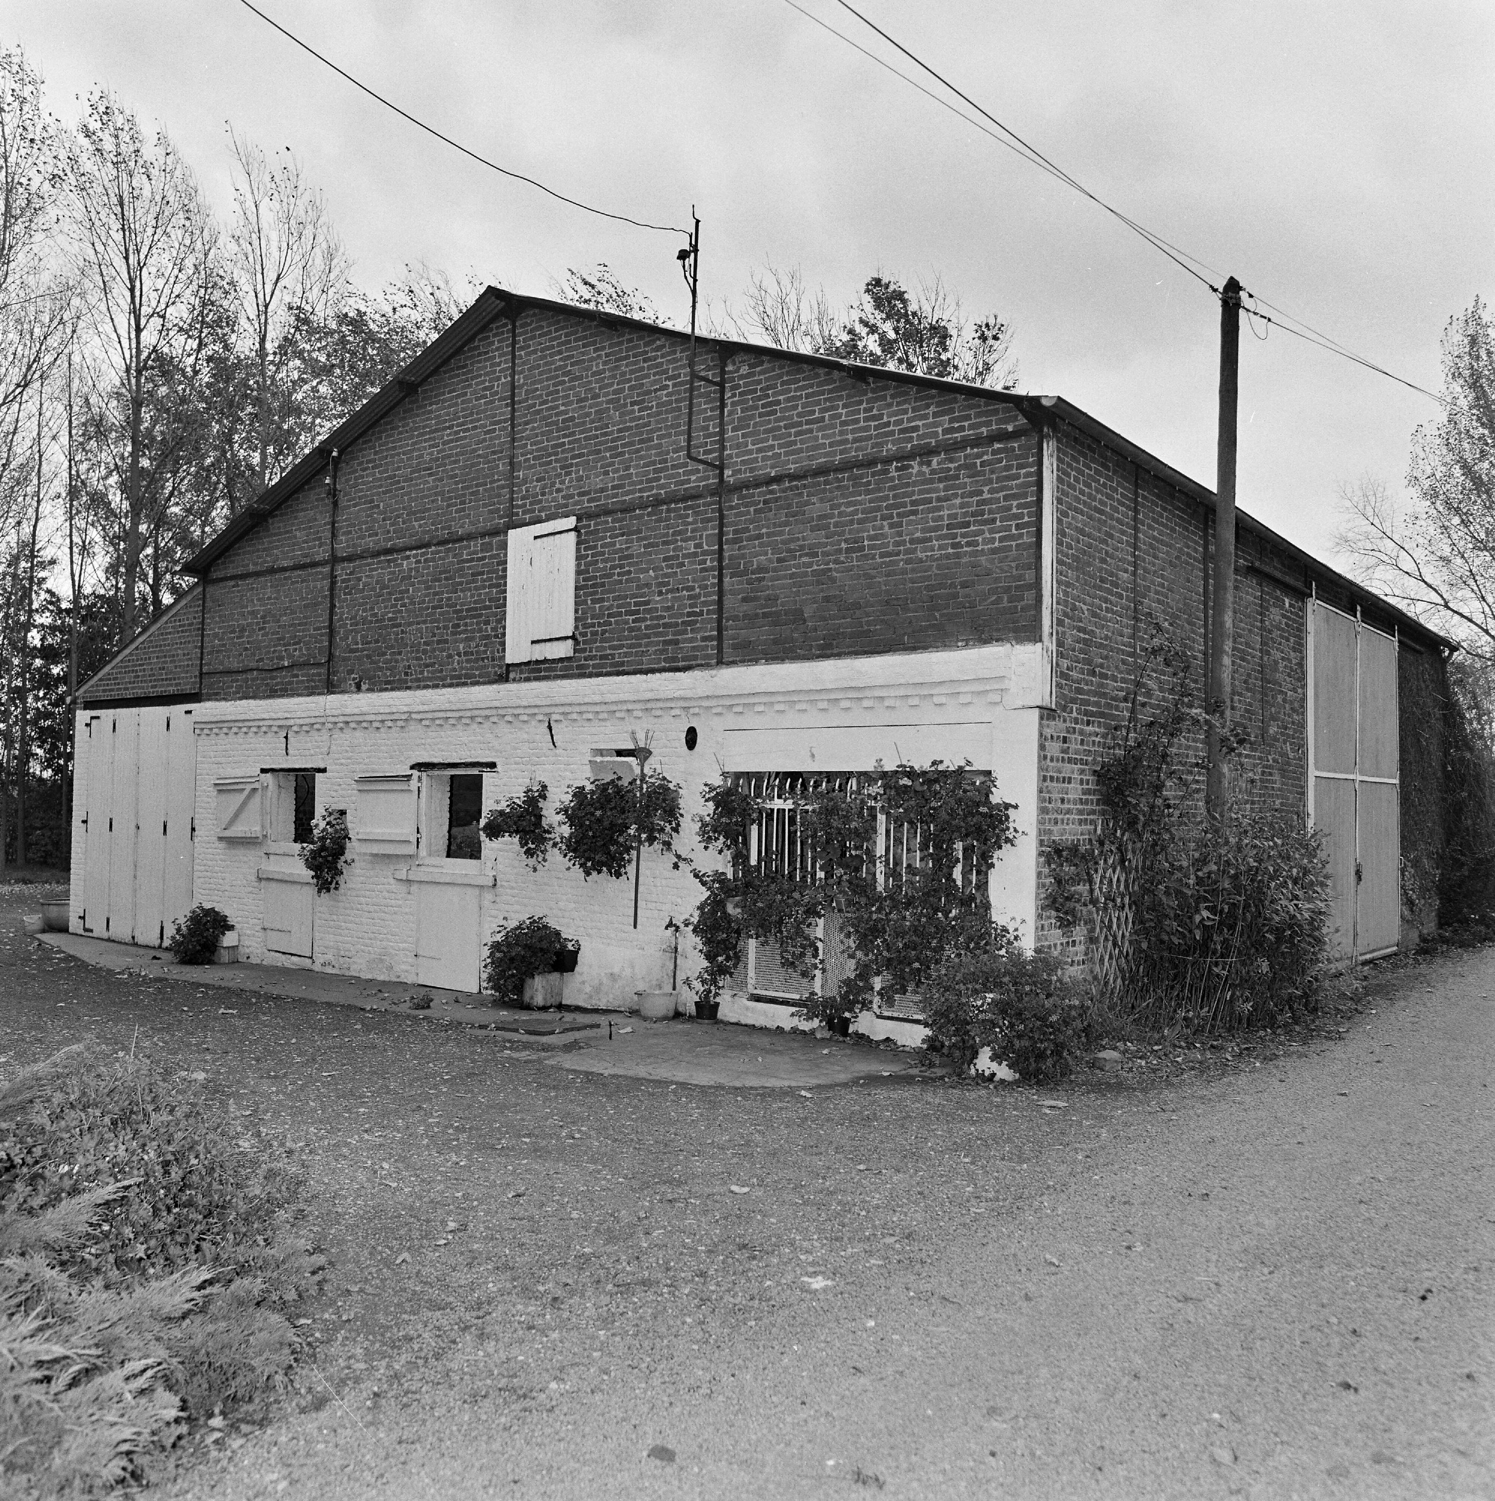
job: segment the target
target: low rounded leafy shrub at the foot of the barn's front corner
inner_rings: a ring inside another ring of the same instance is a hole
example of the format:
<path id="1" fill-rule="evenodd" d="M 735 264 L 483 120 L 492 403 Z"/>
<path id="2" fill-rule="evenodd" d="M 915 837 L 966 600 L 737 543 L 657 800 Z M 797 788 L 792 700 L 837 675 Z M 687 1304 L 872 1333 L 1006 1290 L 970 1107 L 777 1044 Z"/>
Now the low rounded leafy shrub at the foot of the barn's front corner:
<path id="1" fill-rule="evenodd" d="M 989 946 L 955 953 L 925 988 L 926 1046 L 959 1073 L 983 1048 L 1033 1082 L 1060 1079 L 1091 1040 L 1088 1007 L 1055 955 L 1028 953 L 994 928 Z"/>

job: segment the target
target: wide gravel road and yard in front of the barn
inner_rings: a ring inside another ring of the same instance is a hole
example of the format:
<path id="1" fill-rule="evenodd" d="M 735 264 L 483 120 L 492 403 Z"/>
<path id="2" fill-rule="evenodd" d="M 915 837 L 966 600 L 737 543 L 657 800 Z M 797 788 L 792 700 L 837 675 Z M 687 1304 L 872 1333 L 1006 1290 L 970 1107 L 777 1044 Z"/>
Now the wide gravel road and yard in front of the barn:
<path id="1" fill-rule="evenodd" d="M 203 1067 L 305 1144 L 335 1265 L 291 1406 L 168 1495 L 1495 1496 L 1492 950 L 1192 1082 L 805 1099 L 228 1007 L 27 907 L 0 1069 Z"/>

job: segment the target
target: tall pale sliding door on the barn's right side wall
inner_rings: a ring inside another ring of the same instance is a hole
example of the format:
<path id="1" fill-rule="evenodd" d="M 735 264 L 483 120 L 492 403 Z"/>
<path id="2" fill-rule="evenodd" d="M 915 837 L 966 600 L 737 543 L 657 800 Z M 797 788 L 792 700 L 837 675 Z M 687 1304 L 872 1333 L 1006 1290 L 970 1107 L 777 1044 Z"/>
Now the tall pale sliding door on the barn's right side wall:
<path id="1" fill-rule="evenodd" d="M 1309 821 L 1330 875 L 1330 956 L 1370 959 L 1400 937 L 1396 638 L 1313 600 Z"/>

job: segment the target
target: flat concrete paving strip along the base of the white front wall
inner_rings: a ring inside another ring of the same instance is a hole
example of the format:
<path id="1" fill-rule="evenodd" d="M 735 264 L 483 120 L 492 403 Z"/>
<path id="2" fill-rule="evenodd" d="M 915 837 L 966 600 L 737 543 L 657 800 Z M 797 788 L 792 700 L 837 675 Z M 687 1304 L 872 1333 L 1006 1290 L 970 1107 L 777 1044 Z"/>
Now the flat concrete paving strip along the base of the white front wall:
<path id="1" fill-rule="evenodd" d="M 699 1022 L 677 1016 L 645 1022 L 636 1013 L 527 1012 L 489 1006 L 467 991 L 443 991 L 399 980 L 368 980 L 326 970 L 276 964 L 177 964 L 167 949 L 149 949 L 44 932 L 38 943 L 120 974 L 179 980 L 222 991 L 326 1001 L 365 1012 L 395 1012 L 423 1021 L 456 1024 L 522 1040 L 525 1055 L 545 1058 L 578 1073 L 602 1073 L 671 1084 L 809 1090 L 865 1078 L 895 1078 L 919 1072 L 908 1049 L 872 1046 L 806 1031 L 769 1031 L 729 1022 Z M 416 1003 L 416 1004 L 411 1004 Z M 554 1057 L 546 1057 L 554 1054 Z"/>

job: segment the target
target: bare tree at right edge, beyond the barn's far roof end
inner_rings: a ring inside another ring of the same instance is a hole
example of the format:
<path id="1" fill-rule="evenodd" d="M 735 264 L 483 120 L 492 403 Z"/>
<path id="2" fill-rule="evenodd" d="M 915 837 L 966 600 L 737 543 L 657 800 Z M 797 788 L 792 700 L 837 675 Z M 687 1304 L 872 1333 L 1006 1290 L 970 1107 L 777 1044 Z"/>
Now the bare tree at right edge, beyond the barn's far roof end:
<path id="1" fill-rule="evenodd" d="M 1340 491 L 1339 545 L 1366 582 L 1495 665 L 1495 323 L 1475 299 L 1442 336 L 1444 413 L 1412 434 L 1408 500 Z"/>

